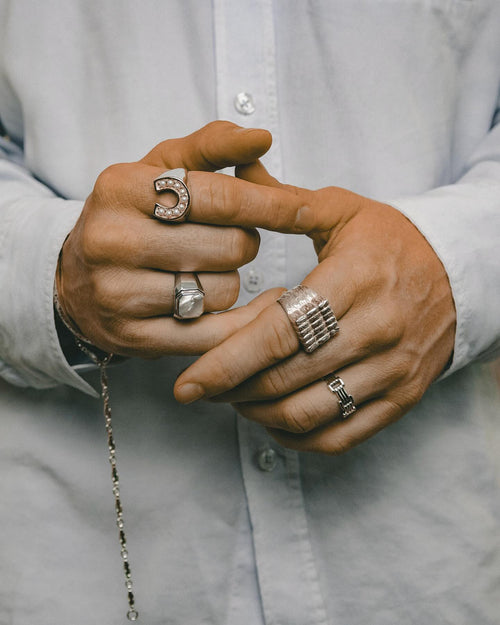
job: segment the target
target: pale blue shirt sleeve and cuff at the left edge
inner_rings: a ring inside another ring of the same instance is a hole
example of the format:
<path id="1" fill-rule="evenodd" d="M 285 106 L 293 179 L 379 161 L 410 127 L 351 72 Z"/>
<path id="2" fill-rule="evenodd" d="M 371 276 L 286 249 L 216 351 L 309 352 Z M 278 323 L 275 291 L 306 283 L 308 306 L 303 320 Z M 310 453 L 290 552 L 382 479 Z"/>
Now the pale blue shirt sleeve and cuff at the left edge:
<path id="1" fill-rule="evenodd" d="M 0 376 L 11 384 L 69 384 L 95 395 L 64 357 L 52 303 L 59 252 L 81 210 L 33 178 L 19 147 L 0 139 Z"/>

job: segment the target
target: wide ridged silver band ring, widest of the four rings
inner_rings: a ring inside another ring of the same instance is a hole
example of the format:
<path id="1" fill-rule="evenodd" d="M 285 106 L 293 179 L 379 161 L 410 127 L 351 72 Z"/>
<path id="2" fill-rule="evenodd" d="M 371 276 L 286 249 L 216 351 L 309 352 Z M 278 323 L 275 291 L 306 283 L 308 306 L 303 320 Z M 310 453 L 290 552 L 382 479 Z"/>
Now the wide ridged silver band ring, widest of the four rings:
<path id="1" fill-rule="evenodd" d="M 328 300 L 307 286 L 299 284 L 278 299 L 308 353 L 334 337 L 339 324 Z"/>

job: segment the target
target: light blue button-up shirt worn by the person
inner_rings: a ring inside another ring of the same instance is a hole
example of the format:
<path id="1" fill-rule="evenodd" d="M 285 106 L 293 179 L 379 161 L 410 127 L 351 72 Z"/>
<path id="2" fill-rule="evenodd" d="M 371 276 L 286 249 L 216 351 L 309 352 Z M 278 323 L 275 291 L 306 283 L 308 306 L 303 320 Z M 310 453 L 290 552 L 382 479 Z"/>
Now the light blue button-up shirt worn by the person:
<path id="1" fill-rule="evenodd" d="M 222 118 L 272 132 L 281 180 L 413 221 L 448 272 L 454 360 L 336 458 L 179 406 L 185 358 L 116 366 L 142 622 L 499 625 L 500 397 L 478 362 L 500 347 L 499 89 L 497 0 L 0 0 L 0 622 L 125 622 L 97 374 L 63 356 L 53 277 L 102 169 Z M 263 232 L 239 303 L 315 262 Z"/>

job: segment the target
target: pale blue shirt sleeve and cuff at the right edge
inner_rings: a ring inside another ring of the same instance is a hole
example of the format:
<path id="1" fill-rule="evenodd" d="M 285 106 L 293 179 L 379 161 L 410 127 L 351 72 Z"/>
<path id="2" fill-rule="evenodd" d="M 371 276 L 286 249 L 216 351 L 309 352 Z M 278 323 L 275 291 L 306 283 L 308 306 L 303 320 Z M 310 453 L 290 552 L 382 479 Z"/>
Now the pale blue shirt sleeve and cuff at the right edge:
<path id="1" fill-rule="evenodd" d="M 457 327 L 445 375 L 500 354 L 500 109 L 455 184 L 389 203 L 426 237 L 448 273 Z"/>

